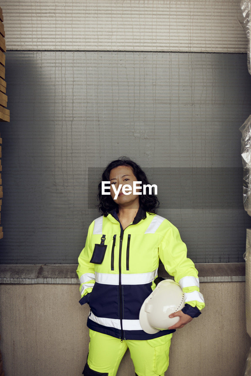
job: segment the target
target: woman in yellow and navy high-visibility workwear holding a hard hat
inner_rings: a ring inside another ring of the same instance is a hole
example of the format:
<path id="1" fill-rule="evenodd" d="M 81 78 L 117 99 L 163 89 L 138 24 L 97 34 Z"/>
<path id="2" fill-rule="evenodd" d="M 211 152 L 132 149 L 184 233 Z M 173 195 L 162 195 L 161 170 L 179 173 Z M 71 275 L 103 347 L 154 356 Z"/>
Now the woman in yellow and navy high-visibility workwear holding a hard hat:
<path id="1" fill-rule="evenodd" d="M 90 344 L 83 374 L 115 376 L 129 347 L 136 375 L 164 376 L 172 333 L 197 317 L 205 305 L 199 293 L 198 272 L 187 258 L 178 229 L 156 215 L 157 197 L 148 192 L 123 194 L 123 185 L 133 187 L 136 181 L 141 186 L 149 184 L 140 166 L 120 158 L 108 164 L 102 181 L 110 181 L 110 194 L 102 195 L 100 182 L 99 209 L 103 215 L 88 229 L 77 269 L 79 302 L 90 305 Z M 115 191 L 119 192 L 117 196 Z M 140 326 L 139 312 L 156 287 L 159 259 L 180 282 L 186 305 L 170 315 L 180 317 L 177 324 L 148 334 Z"/>

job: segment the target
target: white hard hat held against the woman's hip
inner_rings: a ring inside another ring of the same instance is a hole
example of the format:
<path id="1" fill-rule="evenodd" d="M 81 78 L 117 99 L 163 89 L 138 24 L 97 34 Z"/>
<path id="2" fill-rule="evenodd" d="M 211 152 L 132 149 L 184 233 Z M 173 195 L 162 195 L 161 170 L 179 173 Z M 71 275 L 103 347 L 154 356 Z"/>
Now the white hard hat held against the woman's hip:
<path id="1" fill-rule="evenodd" d="M 146 298 L 140 309 L 140 325 L 146 333 L 154 334 L 176 324 L 180 317 L 169 315 L 180 311 L 184 304 L 184 293 L 178 283 L 165 279 Z"/>

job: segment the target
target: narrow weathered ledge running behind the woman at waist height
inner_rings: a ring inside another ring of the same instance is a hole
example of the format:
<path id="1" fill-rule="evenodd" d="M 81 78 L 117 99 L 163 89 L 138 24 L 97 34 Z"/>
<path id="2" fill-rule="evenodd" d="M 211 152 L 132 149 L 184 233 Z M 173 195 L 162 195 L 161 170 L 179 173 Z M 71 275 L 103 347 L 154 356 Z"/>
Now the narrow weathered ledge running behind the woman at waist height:
<path id="1" fill-rule="evenodd" d="M 0 284 L 79 284 L 78 265 L 0 265 Z M 245 281 L 245 262 L 195 264 L 200 282 Z M 158 276 L 172 278 L 158 268 Z"/>

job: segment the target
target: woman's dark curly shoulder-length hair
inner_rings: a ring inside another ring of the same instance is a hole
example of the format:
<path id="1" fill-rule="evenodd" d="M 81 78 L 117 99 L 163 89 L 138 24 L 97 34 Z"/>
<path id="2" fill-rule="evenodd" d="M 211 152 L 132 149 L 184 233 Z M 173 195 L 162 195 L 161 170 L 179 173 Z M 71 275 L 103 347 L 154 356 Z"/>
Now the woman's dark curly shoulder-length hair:
<path id="1" fill-rule="evenodd" d="M 137 181 L 141 181 L 142 185 L 150 184 L 146 177 L 145 172 L 141 169 L 141 167 L 137 163 L 131 161 L 131 159 L 129 159 L 128 157 L 123 156 L 123 157 L 120 157 L 119 159 L 116 159 L 116 161 L 110 162 L 106 166 L 105 170 L 103 171 L 102 179 L 99 183 L 99 193 L 97 194 L 97 200 L 99 201 L 99 205 L 97 206 L 99 208 L 99 211 L 102 212 L 103 214 L 113 209 L 116 209 L 117 211 L 119 207 L 117 203 L 113 201 L 110 194 L 102 195 L 102 191 L 101 191 L 102 181 L 110 181 L 110 171 L 113 168 L 119 167 L 119 166 L 131 167 L 134 173 L 134 176 L 137 178 Z M 157 196 L 155 196 L 154 194 L 150 195 L 148 190 L 146 190 L 146 194 L 139 195 L 138 197 L 139 197 L 139 204 L 142 209 L 149 212 L 149 214 L 151 213 L 157 214 L 157 209 L 160 205 L 160 202 L 158 201 Z"/>

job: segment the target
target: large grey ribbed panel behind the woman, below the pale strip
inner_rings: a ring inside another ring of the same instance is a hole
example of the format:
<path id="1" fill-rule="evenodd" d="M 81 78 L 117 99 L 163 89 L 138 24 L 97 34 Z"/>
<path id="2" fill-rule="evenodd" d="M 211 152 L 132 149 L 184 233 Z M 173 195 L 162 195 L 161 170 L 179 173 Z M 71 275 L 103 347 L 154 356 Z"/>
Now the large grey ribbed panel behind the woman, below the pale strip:
<path id="1" fill-rule="evenodd" d="M 6 81 L 2 264 L 77 262 L 99 216 L 88 208 L 88 167 L 121 155 L 142 167 L 242 166 L 245 54 L 7 52 Z M 158 214 L 194 262 L 243 261 L 251 222 L 242 208 Z"/>

